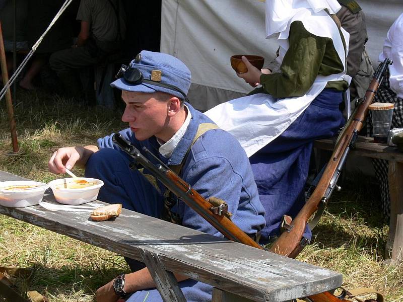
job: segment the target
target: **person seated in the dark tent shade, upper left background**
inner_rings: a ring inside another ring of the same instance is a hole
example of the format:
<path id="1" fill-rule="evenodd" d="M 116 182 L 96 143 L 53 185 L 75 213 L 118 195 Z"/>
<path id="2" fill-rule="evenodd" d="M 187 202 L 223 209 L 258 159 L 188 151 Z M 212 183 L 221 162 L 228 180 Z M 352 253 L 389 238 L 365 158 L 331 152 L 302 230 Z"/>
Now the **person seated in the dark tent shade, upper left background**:
<path id="1" fill-rule="evenodd" d="M 81 22 L 77 43 L 50 56 L 50 66 L 71 97 L 81 96 L 77 69 L 92 66 L 119 51 L 125 36 L 125 14 L 120 0 L 81 0 L 77 13 Z M 83 83 L 89 104 L 95 104 L 94 78 Z"/>

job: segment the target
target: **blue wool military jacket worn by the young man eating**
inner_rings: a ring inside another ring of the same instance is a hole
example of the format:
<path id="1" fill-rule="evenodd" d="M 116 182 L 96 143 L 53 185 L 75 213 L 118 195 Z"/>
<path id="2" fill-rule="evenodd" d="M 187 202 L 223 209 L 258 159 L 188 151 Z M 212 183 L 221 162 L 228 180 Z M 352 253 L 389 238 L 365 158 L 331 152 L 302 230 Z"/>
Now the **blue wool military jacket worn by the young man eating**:
<path id="1" fill-rule="evenodd" d="M 185 134 L 170 158 L 163 157 L 158 148 L 160 144 L 155 136 L 139 141 L 130 128 L 120 131 L 134 146 L 141 150 L 146 146 L 155 156 L 167 165 L 179 165 L 191 145 L 200 123 L 213 123 L 203 113 L 186 103 L 191 113 L 191 120 Z M 115 148 L 111 136 L 98 139 L 99 148 Z M 144 154 L 147 156 L 146 154 Z M 150 161 L 155 162 L 150 156 Z M 182 167 L 182 178 L 203 197 L 215 196 L 225 200 L 232 220 L 247 234 L 255 234 L 264 224 L 264 209 L 259 201 L 257 187 L 253 179 L 249 160 L 239 144 L 230 133 L 222 129 L 212 129 L 201 135 L 191 146 Z M 165 190 L 162 186 L 162 191 Z M 162 204 L 160 205 L 162 209 Z M 172 209 L 182 218 L 182 225 L 201 232 L 222 236 L 210 223 L 183 201 L 178 201 Z"/>

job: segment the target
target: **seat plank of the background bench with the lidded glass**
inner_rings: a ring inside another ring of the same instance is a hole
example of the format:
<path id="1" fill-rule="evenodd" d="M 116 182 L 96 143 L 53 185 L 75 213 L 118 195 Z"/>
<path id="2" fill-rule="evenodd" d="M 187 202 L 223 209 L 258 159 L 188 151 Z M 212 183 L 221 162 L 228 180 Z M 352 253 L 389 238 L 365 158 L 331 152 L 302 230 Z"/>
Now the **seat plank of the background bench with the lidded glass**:
<path id="1" fill-rule="evenodd" d="M 335 138 L 319 139 L 313 143 L 318 149 L 333 150 Z M 375 143 L 371 137 L 358 136 L 355 148 L 350 150 L 351 154 L 381 159 L 387 161 L 403 162 L 403 152 L 397 148 L 388 146 L 384 143 Z"/>

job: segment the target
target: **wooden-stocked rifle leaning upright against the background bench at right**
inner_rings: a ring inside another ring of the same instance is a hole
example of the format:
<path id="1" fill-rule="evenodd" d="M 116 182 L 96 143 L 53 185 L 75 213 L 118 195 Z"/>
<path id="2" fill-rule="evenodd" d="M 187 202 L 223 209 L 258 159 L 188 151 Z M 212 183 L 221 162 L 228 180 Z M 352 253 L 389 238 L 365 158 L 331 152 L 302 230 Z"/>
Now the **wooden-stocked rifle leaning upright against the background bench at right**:
<path id="1" fill-rule="evenodd" d="M 383 81 L 384 71 L 389 64 L 392 64 L 392 61 L 386 58 L 375 71 L 364 98 L 357 102 L 358 106 L 340 133 L 331 158 L 315 190 L 297 216 L 291 222 L 288 221 L 286 231 L 275 241 L 271 248 L 272 252 L 295 258 L 307 244 L 308 240 L 303 238 L 306 223 L 321 203 L 326 204 L 334 188 L 340 188 L 337 186 L 337 181 L 341 170 L 350 148 L 354 147 L 355 139 L 366 119 L 368 106 L 372 104 L 379 85 Z"/>

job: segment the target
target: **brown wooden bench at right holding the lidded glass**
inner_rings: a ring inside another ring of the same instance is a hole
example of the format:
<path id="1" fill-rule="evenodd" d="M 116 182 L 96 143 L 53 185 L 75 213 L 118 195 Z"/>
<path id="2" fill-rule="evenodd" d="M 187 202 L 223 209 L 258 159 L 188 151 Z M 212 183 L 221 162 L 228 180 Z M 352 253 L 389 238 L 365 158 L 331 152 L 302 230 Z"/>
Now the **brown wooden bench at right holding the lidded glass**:
<path id="1" fill-rule="evenodd" d="M 314 142 L 314 147 L 333 150 L 335 138 Z M 387 160 L 389 162 L 390 223 L 386 242 L 386 257 L 403 262 L 403 153 L 384 143 L 374 143 L 371 137 L 358 136 L 351 154 Z"/>

